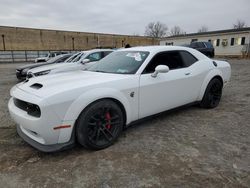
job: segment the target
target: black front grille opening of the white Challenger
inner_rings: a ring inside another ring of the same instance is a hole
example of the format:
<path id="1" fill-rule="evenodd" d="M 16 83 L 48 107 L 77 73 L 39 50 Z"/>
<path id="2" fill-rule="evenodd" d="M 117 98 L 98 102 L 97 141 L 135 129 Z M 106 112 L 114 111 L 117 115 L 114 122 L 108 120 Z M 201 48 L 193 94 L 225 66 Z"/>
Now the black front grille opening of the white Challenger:
<path id="1" fill-rule="evenodd" d="M 34 117 L 41 116 L 41 110 L 38 105 L 25 102 L 17 98 L 14 98 L 13 100 L 14 100 L 14 104 L 16 105 L 16 107 L 20 108 L 21 110 L 26 111 L 27 114 L 34 116 Z"/>

